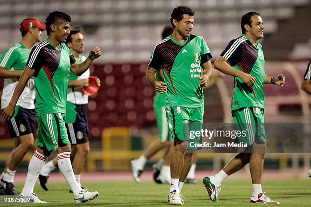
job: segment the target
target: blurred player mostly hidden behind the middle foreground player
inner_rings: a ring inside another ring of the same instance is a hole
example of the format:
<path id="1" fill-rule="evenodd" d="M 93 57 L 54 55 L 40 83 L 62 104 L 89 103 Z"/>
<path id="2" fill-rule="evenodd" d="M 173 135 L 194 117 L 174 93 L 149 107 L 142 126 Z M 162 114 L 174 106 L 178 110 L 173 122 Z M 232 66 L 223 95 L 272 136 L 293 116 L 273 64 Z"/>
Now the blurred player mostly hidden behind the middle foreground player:
<path id="1" fill-rule="evenodd" d="M 164 27 L 162 31 L 162 39 L 167 38 L 173 33 L 172 26 Z M 156 75 L 158 81 L 163 80 L 163 72 L 160 69 Z M 141 182 L 140 175 L 144 169 L 146 162 L 160 150 L 165 150 L 164 155 L 159 161 L 153 164 L 153 179 L 157 183 L 170 183 L 170 162 L 172 156 L 172 134 L 168 130 L 168 123 L 165 113 L 166 93 L 155 92 L 153 99 L 153 110 L 155 119 L 159 129 L 159 140 L 153 141 L 145 152 L 138 158 L 131 161 L 132 175 L 137 183 Z"/>

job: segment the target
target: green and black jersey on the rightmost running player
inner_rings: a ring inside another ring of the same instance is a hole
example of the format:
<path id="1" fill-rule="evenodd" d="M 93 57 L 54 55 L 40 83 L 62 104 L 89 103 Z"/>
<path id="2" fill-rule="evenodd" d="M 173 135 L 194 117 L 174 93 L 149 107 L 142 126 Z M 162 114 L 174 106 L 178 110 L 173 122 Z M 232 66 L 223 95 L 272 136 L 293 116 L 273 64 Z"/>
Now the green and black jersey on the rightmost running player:
<path id="1" fill-rule="evenodd" d="M 221 56 L 236 70 L 250 74 L 255 78 L 253 87 L 248 87 L 243 83 L 242 79 L 234 77 L 231 110 L 244 107 L 260 107 L 264 109 L 265 58 L 261 44 L 257 42 L 255 47 L 250 39 L 243 34 L 241 37 L 230 41 Z"/>

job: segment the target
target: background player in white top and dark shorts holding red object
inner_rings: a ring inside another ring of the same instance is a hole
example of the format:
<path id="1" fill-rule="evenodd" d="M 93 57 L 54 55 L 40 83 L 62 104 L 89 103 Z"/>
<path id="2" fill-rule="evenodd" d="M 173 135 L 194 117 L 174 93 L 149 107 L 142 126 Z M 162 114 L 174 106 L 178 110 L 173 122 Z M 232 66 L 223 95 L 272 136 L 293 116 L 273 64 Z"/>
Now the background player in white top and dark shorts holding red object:
<path id="1" fill-rule="evenodd" d="M 84 37 L 81 33 L 80 27 L 73 27 L 70 29 L 70 34 L 66 43 L 78 63 L 81 63 L 86 59 L 86 57 L 81 54 L 84 52 Z M 66 102 L 65 123 L 68 138 L 72 147 L 72 168 L 74 170 L 75 178 L 80 186 L 81 170 L 84 165 L 85 158 L 89 152 L 88 124 L 86 114 L 88 95 L 82 91 L 82 87 L 88 86 L 88 78 L 89 69 L 87 69 L 87 71 L 85 71 L 81 76 L 76 76 L 73 72 L 70 72 Z M 98 86 L 101 85 L 101 82 L 98 78 L 96 82 Z M 48 190 L 48 175 L 56 167 L 57 158 L 55 157 L 53 160 L 47 162 L 41 169 L 39 181 L 41 187 L 44 190 Z"/>

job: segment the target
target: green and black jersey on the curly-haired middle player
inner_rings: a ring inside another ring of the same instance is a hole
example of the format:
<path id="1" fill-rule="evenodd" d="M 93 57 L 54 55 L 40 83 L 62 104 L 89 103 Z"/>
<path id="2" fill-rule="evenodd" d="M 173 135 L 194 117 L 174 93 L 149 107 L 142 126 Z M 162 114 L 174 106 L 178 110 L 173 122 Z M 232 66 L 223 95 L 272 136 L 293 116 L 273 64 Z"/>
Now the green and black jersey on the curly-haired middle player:
<path id="1" fill-rule="evenodd" d="M 203 74 L 202 64 L 210 59 L 210 51 L 200 36 L 191 34 L 183 45 L 169 36 L 155 45 L 149 67 L 163 69 L 167 107 L 204 107 L 198 78 Z"/>

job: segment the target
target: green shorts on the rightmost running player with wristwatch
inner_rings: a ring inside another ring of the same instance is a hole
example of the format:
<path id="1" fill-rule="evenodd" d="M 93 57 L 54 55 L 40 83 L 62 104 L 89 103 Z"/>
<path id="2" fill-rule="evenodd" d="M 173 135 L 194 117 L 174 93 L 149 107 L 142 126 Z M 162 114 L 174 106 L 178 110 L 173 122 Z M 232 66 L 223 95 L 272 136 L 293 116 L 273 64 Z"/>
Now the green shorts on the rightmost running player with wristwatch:
<path id="1" fill-rule="evenodd" d="M 246 136 L 238 137 L 239 143 L 246 143 L 247 146 L 251 146 L 254 142 L 257 144 L 267 143 L 264 127 L 264 109 L 259 107 L 247 107 L 234 110 L 231 114 L 236 129 L 246 131 Z"/>

